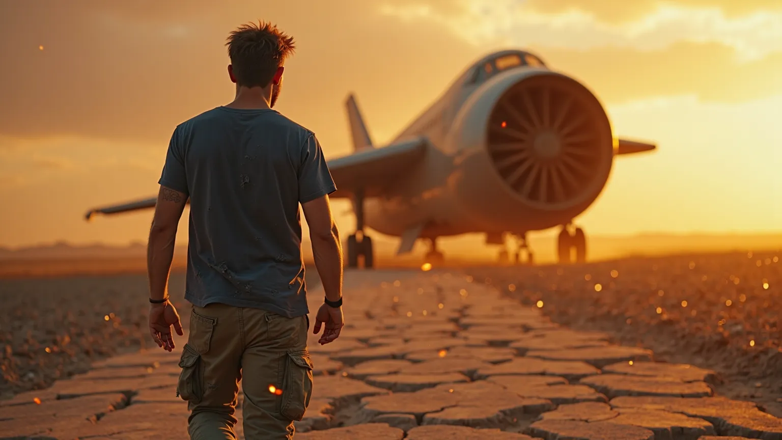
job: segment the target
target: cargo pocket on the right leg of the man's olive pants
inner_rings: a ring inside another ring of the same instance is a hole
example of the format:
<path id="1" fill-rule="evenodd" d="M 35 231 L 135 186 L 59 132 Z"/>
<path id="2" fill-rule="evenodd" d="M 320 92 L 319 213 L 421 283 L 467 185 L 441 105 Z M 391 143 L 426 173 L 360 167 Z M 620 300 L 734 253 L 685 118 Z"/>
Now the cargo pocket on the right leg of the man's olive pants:
<path id="1" fill-rule="evenodd" d="M 282 382 L 280 414 L 289 420 L 304 418 L 312 395 L 312 359 L 307 350 L 288 352 L 285 359 L 285 379 Z"/>

